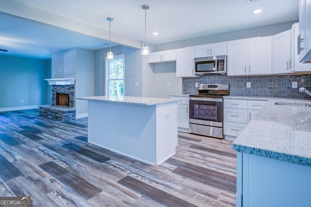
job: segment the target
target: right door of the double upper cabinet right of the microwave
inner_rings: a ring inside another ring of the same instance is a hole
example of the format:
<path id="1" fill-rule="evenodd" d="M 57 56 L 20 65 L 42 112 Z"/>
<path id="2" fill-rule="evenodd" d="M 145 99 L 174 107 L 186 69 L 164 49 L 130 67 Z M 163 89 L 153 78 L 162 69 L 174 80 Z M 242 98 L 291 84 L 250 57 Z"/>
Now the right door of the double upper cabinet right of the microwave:
<path id="1" fill-rule="evenodd" d="M 272 37 L 248 39 L 248 66 L 250 75 L 272 73 Z"/>

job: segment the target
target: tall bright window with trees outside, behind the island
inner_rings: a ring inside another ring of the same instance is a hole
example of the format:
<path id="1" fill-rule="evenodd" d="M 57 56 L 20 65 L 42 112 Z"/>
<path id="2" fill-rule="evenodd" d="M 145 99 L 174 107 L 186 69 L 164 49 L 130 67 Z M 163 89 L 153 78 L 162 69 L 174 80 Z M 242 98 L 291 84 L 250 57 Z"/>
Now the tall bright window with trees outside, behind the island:
<path id="1" fill-rule="evenodd" d="M 106 96 L 123 96 L 124 95 L 124 69 L 125 56 L 115 55 L 113 60 L 106 61 Z"/>

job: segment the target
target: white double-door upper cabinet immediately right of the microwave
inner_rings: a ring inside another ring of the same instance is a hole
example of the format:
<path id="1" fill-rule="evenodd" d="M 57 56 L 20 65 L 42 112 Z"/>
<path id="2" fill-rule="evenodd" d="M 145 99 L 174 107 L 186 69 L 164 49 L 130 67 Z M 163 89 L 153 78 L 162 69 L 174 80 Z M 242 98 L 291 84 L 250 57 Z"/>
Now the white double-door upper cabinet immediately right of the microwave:
<path id="1" fill-rule="evenodd" d="M 271 74 L 271 56 L 271 36 L 229 41 L 227 75 Z"/>

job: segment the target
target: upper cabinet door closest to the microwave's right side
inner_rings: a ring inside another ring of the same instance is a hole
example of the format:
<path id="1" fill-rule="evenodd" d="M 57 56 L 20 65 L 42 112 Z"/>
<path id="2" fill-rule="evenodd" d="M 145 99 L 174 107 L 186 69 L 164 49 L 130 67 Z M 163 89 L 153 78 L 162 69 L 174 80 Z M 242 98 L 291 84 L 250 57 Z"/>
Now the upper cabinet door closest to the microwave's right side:
<path id="1" fill-rule="evenodd" d="M 245 75 L 248 65 L 247 39 L 228 42 L 227 75 Z"/>

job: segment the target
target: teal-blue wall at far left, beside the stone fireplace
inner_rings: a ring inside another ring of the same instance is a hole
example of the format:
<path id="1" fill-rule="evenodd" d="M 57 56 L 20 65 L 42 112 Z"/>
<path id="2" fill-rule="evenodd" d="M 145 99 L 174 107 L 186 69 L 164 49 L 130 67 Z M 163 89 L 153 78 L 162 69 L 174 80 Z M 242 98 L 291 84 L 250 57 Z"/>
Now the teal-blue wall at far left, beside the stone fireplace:
<path id="1" fill-rule="evenodd" d="M 48 104 L 48 65 L 47 60 L 0 55 L 0 109 Z"/>

